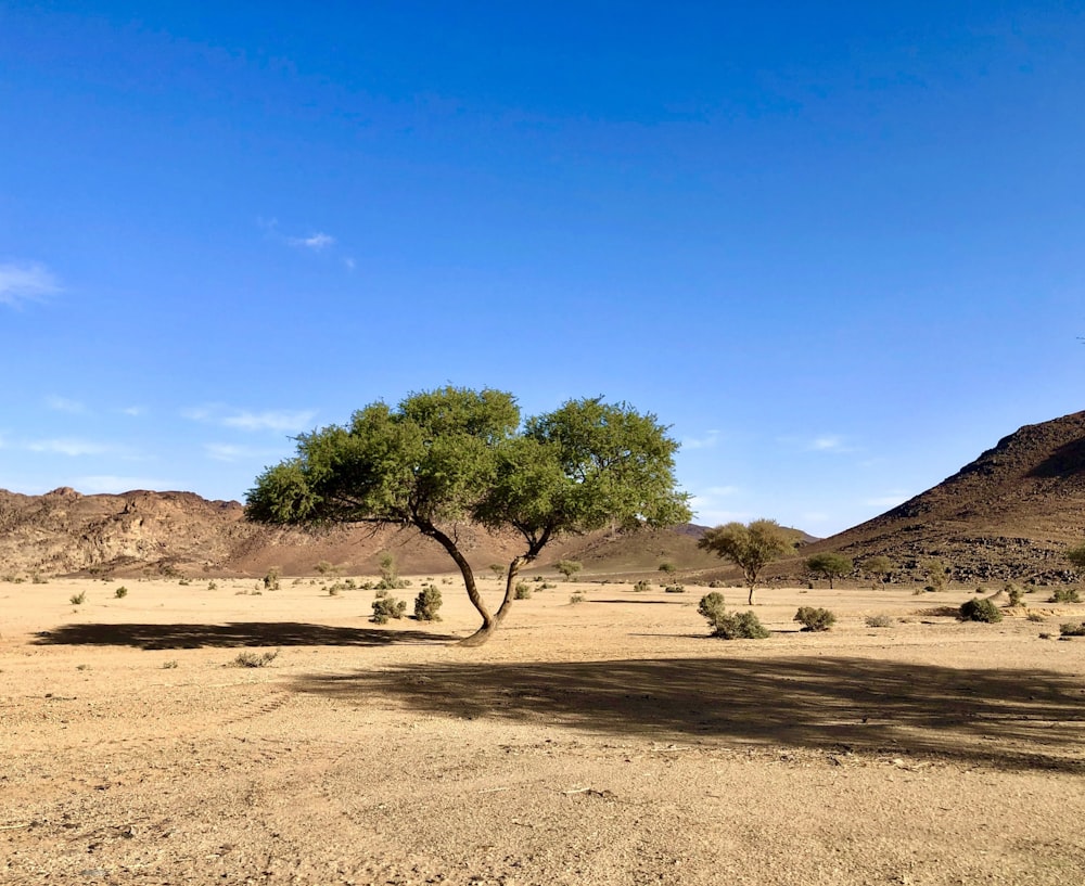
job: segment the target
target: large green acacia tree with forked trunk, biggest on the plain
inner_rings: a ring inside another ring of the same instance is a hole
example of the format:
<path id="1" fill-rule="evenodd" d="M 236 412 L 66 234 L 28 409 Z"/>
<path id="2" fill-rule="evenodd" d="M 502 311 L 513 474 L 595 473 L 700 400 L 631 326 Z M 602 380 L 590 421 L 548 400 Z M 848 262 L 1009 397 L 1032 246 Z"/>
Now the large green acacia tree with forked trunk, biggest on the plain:
<path id="1" fill-rule="evenodd" d="M 623 526 L 673 526 L 690 517 L 676 488 L 678 444 L 652 414 L 602 398 L 570 400 L 521 424 L 511 394 L 445 387 L 397 407 L 375 402 L 347 426 L 297 438 L 297 454 L 250 490 L 248 519 L 315 526 L 412 526 L 456 563 L 482 627 L 478 645 L 508 615 L 515 577 L 554 539 Z M 473 521 L 523 540 L 490 613 L 457 527 Z"/>

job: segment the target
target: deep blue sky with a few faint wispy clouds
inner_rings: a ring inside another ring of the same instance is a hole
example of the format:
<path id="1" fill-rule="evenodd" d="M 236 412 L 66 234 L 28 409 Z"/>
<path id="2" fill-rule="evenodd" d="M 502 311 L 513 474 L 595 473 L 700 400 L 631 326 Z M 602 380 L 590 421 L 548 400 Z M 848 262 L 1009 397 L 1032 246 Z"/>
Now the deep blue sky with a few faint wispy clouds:
<path id="1" fill-rule="evenodd" d="M 842 530 L 1085 408 L 1083 97 L 1083 2 L 2 3 L 0 487 L 451 383 Z"/>

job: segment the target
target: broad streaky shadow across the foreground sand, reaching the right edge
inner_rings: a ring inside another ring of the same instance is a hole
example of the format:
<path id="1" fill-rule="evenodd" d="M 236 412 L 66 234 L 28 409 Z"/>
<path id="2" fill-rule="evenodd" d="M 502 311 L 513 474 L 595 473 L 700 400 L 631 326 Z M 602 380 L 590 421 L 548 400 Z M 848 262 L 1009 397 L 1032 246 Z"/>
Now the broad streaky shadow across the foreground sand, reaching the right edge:
<path id="1" fill-rule="evenodd" d="M 844 657 L 486 663 L 311 675 L 295 689 L 660 741 L 934 754 L 1085 773 L 1085 689 L 1041 670 Z"/>

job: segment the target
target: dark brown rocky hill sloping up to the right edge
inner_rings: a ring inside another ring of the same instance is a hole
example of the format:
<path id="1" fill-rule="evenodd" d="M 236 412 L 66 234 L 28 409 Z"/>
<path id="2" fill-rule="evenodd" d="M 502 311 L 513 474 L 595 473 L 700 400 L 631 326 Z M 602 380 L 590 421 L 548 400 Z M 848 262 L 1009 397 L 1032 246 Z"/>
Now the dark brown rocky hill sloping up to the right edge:
<path id="1" fill-rule="evenodd" d="M 803 553 L 885 554 L 917 579 L 939 557 L 955 581 L 1067 581 L 1076 575 L 1063 553 L 1082 541 L 1085 412 L 1075 412 L 1025 425 L 933 489 Z"/>

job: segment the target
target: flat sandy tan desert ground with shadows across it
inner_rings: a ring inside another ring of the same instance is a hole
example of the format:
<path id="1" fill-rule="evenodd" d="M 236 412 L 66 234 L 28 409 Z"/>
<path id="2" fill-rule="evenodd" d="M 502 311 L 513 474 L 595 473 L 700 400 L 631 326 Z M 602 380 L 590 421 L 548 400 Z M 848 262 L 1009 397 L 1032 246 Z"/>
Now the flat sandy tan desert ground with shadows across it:
<path id="1" fill-rule="evenodd" d="M 561 583 L 462 649 L 438 587 L 0 583 L 0 883 L 1085 882 L 1085 606 L 764 590 L 727 642 L 706 589 Z"/>

